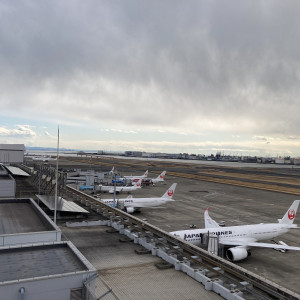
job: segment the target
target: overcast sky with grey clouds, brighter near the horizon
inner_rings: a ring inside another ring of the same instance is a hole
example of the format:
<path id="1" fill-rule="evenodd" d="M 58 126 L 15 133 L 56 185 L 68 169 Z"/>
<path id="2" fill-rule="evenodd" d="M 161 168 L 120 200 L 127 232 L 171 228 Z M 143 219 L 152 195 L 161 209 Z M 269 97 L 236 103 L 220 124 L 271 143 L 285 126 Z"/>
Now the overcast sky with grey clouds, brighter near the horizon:
<path id="1" fill-rule="evenodd" d="M 0 143 L 300 155 L 299 1 L 0 0 Z"/>

